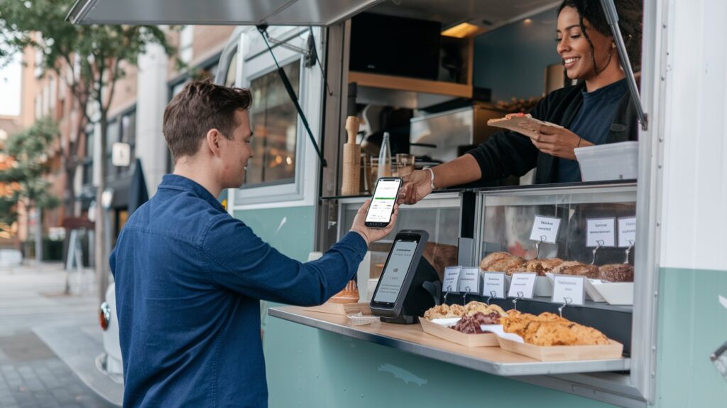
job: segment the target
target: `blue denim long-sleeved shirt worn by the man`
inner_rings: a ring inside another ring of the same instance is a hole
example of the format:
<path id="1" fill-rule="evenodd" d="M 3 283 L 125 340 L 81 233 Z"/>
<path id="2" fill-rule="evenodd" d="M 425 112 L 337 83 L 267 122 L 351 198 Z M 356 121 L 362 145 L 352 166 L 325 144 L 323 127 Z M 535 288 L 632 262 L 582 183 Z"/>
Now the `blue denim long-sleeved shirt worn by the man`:
<path id="1" fill-rule="evenodd" d="M 124 407 L 266 407 L 260 300 L 324 303 L 365 253 L 351 232 L 320 260 L 292 260 L 204 187 L 165 175 L 111 254 Z"/>

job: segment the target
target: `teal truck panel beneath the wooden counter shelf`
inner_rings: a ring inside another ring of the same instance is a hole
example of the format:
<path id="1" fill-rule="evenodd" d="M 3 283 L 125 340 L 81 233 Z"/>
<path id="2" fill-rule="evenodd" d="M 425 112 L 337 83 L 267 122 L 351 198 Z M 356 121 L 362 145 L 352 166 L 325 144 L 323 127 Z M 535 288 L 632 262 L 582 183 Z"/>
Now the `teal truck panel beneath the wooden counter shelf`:
<path id="1" fill-rule="evenodd" d="M 270 408 L 613 407 L 270 316 L 265 345 Z"/>

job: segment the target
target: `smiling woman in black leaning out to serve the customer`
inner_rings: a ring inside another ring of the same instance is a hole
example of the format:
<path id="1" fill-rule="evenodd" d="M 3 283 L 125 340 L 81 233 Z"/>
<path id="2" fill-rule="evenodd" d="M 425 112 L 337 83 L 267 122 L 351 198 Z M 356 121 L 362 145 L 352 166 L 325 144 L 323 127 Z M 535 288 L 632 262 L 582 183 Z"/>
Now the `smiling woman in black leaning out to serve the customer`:
<path id="1" fill-rule="evenodd" d="M 641 7 L 637 0 L 616 0 L 619 28 L 635 71 L 640 68 Z M 566 75 L 579 84 L 550 92 L 530 113 L 563 128 L 543 126 L 533 139 L 499 132 L 464 156 L 417 170 L 404 178 L 404 202 L 414 204 L 434 188 L 521 176 L 534 167 L 536 183 L 580 181 L 574 148 L 636 140 L 635 108 L 600 2 L 563 1 L 557 33 Z"/>

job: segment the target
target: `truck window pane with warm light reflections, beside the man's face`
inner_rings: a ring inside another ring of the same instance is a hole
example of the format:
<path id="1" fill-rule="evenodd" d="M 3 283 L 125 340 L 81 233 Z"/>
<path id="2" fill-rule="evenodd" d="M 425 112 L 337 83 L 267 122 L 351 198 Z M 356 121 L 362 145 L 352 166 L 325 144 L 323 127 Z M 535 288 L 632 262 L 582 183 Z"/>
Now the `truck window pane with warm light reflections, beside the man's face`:
<path id="1" fill-rule="evenodd" d="M 300 61 L 284 66 L 293 89 L 300 87 Z M 250 81 L 253 103 L 250 124 L 253 157 L 247 165 L 244 188 L 261 184 L 294 183 L 297 116 L 278 71 Z"/>

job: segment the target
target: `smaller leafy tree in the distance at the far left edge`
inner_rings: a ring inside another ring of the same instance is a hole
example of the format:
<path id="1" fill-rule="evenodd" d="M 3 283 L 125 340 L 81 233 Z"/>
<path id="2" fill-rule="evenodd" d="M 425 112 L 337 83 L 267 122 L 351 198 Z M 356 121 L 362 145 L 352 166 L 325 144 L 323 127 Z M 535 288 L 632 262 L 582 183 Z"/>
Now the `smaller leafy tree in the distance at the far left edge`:
<path id="1" fill-rule="evenodd" d="M 0 169 L 0 183 L 6 185 L 7 193 L 0 196 L 0 208 L 9 209 L 1 223 L 12 225 L 17 220 L 15 207 L 23 201 L 36 212 L 36 260 L 43 259 L 43 225 L 41 210 L 58 205 L 57 197 L 48 193 L 50 183 L 43 178 L 48 167 L 47 151 L 58 135 L 58 127 L 49 119 L 36 121 L 33 126 L 10 136 L 4 143 L 2 153 L 11 165 Z"/>

